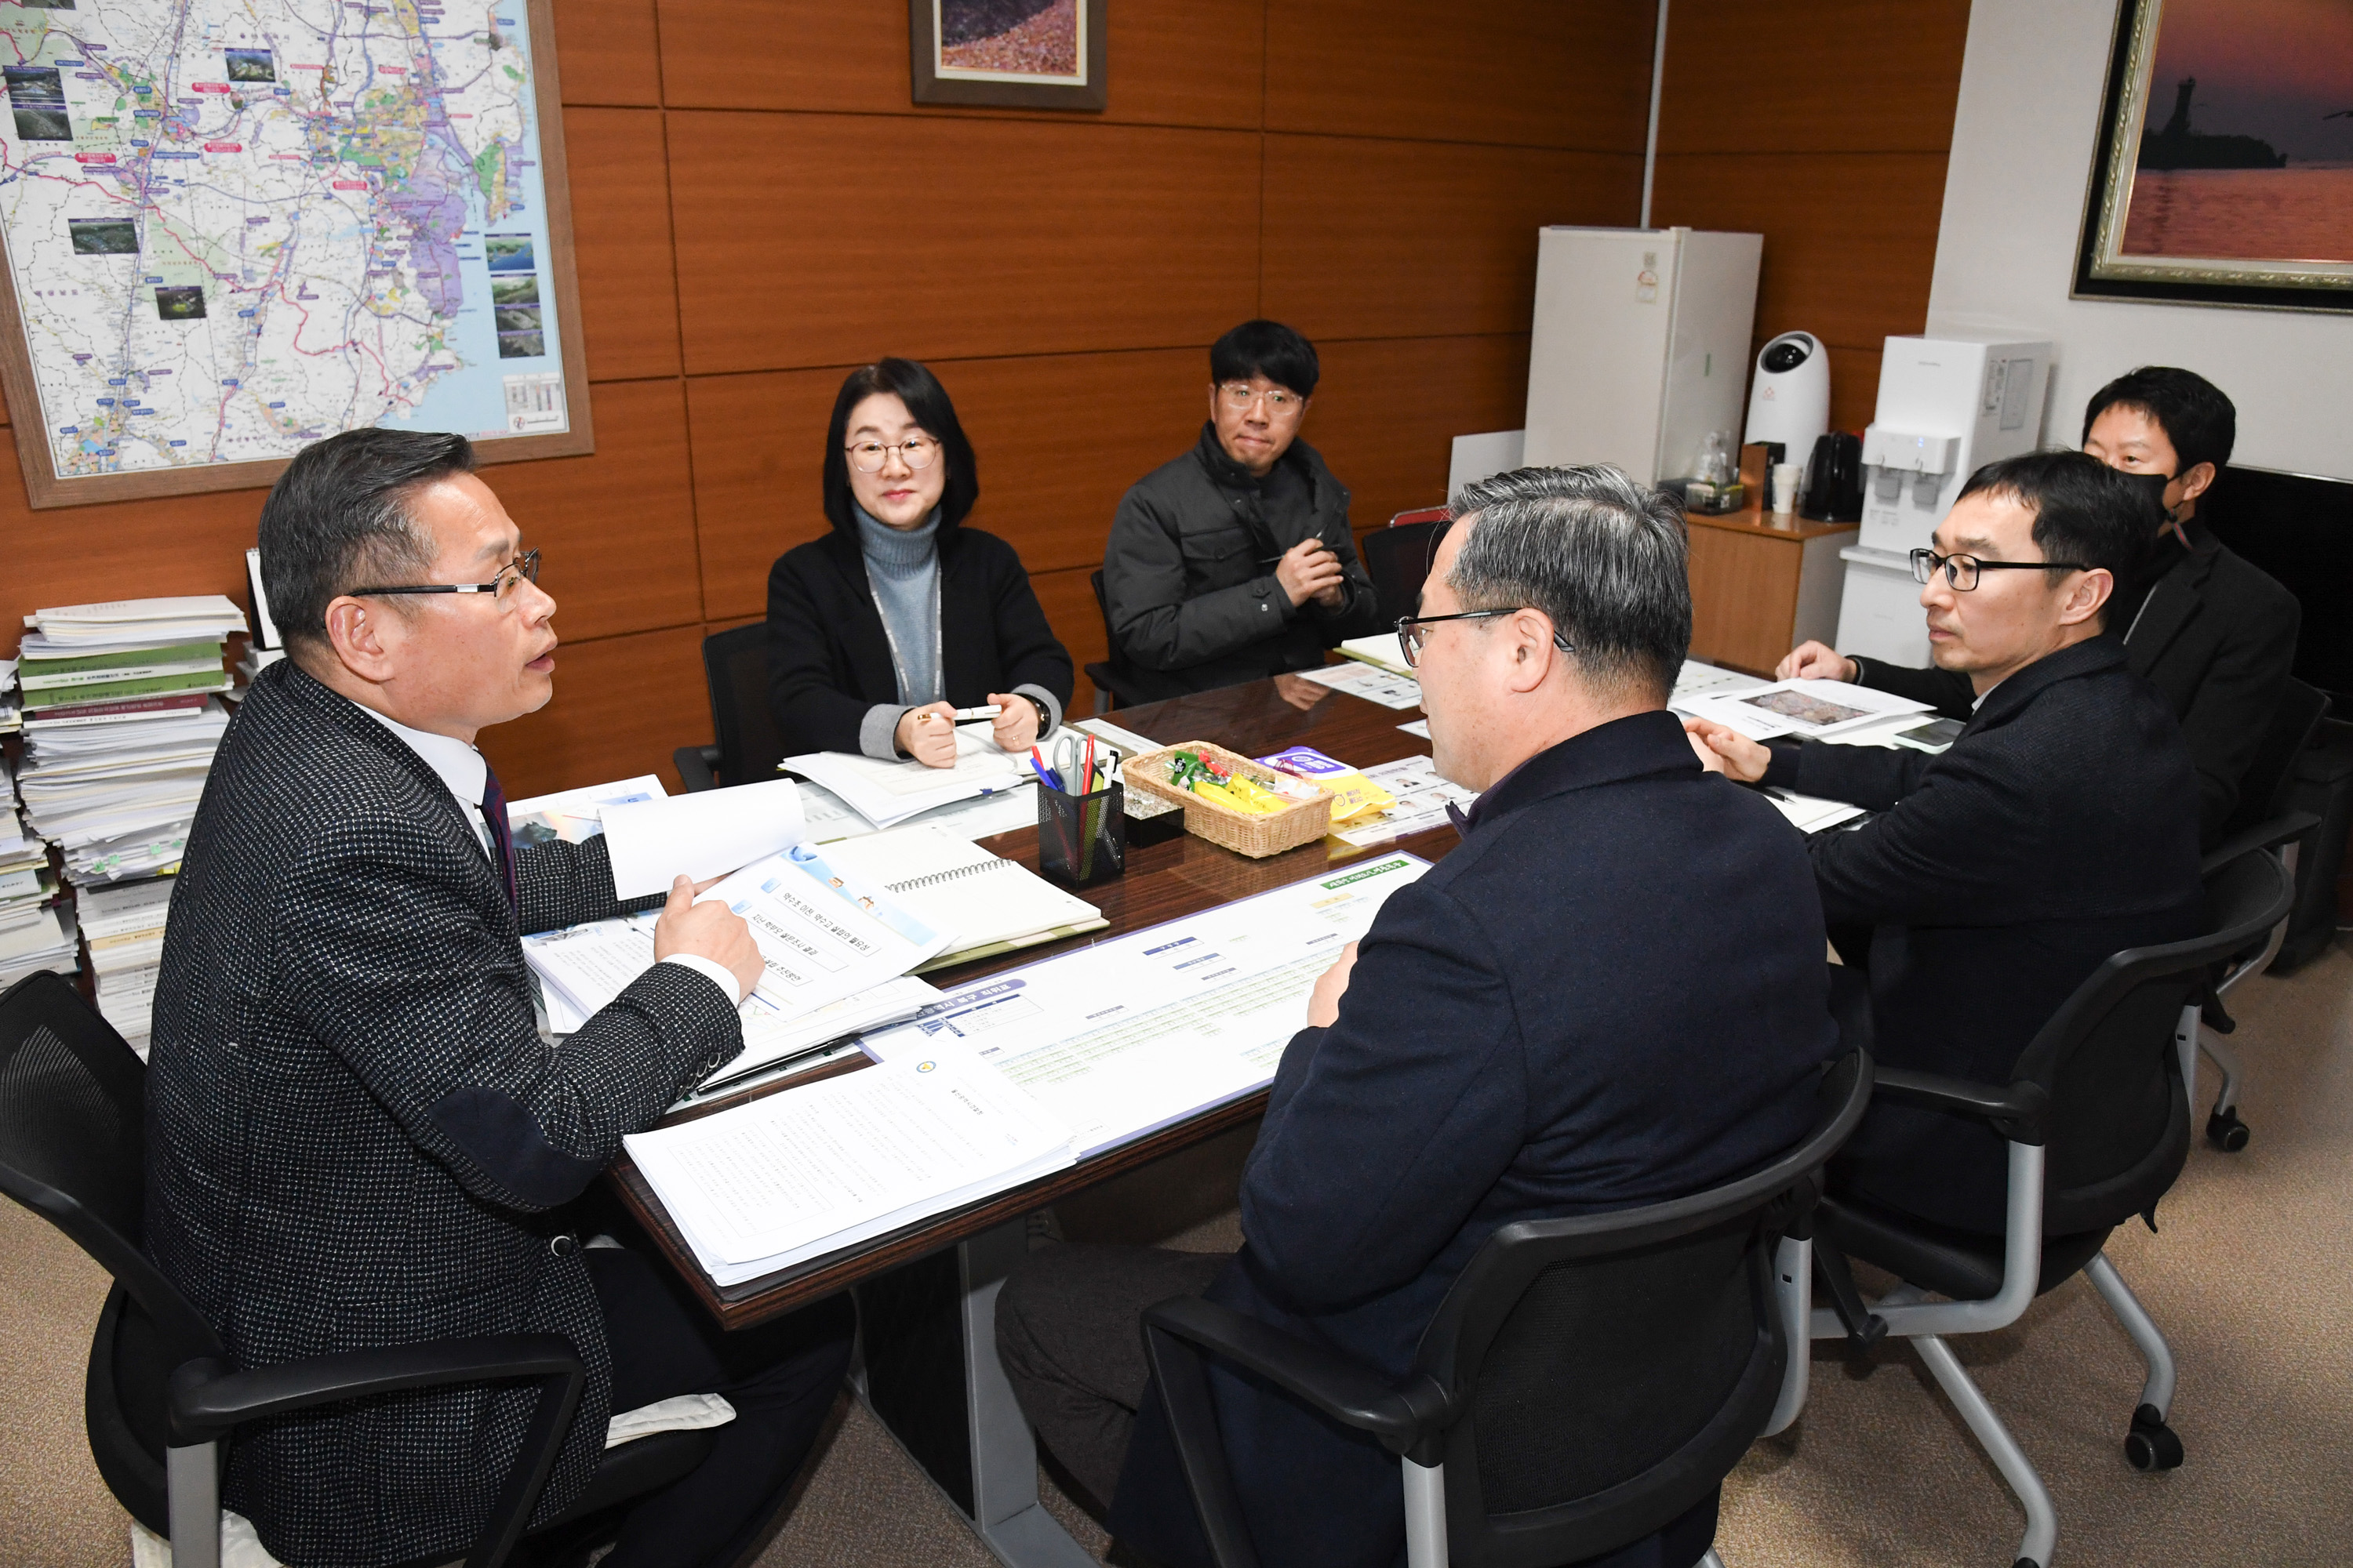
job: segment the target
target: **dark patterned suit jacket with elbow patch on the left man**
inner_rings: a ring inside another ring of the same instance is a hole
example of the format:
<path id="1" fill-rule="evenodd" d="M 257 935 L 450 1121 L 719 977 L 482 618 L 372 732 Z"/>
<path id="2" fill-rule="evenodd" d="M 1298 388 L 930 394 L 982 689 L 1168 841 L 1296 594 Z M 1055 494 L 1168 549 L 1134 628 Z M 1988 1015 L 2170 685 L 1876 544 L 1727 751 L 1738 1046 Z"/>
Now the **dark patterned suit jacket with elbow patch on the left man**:
<path id="1" fill-rule="evenodd" d="M 598 839 L 518 856 L 520 922 L 449 790 L 304 675 L 261 672 L 205 785 L 165 933 L 146 1244 L 240 1366 L 478 1333 L 567 1335 L 588 1392 L 539 1505 L 595 1472 L 612 1359 L 588 1272 L 551 1248 L 619 1152 L 744 1037 L 656 964 L 541 1044 L 522 931 L 616 912 Z M 247 1429 L 226 1502 L 304 1568 L 456 1556 L 532 1392 L 461 1387 Z"/>

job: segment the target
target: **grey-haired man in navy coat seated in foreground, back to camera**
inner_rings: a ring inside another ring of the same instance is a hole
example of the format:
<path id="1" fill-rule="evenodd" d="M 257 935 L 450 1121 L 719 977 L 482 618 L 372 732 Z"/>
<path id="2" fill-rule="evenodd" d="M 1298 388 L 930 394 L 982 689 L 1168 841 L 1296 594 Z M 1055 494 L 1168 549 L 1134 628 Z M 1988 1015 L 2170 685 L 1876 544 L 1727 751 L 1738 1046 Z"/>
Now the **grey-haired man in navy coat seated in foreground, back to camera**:
<path id="1" fill-rule="evenodd" d="M 1242 1178 L 1242 1251 L 1052 1246 L 998 1298 L 1047 1448 L 1167 1563 L 1207 1549 L 1148 1394 L 1176 1293 L 1402 1378 L 1501 1225 L 1713 1187 L 1805 1135 L 1835 1048 L 1805 846 L 1704 773 L 1664 710 L 1692 630 L 1682 515 L 1614 468 L 1522 468 L 1454 501 L 1400 628 L 1461 844 L 1318 980 Z M 1266 1563 L 1388 1568 L 1398 1460 L 1212 1373 Z M 1687 1568 L 1715 1495 L 1614 1568 Z"/>

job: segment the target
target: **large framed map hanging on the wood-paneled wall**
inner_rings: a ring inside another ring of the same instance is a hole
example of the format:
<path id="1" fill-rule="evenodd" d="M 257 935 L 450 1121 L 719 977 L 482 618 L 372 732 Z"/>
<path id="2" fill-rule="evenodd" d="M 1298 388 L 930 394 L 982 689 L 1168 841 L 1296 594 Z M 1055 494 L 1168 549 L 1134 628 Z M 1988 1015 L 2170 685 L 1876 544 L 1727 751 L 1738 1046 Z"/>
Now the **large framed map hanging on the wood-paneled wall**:
<path id="1" fill-rule="evenodd" d="M 33 505 L 362 425 L 595 449 L 553 0 L 0 7 L 0 388 Z"/>

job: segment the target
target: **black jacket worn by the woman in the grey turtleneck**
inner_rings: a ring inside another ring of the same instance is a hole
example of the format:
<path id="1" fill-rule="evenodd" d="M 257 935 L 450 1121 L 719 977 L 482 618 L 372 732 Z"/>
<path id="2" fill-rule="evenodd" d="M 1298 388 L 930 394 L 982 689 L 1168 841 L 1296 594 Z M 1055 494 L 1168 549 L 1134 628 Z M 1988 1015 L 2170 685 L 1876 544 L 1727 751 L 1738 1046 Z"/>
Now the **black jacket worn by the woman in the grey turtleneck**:
<path id="1" fill-rule="evenodd" d="M 951 522 L 939 524 L 939 670 L 958 708 L 1014 686 L 1071 701 L 1071 654 L 1038 609 L 1021 557 L 995 534 Z M 899 701 L 856 534 L 838 527 L 769 569 L 767 675 L 788 757 L 856 752 L 866 710 Z"/>

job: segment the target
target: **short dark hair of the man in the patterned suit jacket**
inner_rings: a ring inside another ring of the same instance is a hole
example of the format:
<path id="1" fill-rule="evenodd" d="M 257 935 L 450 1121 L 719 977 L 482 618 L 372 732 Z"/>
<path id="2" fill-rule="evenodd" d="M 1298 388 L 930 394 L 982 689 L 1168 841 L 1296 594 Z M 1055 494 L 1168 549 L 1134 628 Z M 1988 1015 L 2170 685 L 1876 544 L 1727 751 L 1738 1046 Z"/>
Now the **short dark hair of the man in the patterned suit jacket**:
<path id="1" fill-rule="evenodd" d="M 278 635 L 325 642 L 336 595 L 431 571 L 435 541 L 409 517 L 409 496 L 473 465 L 473 442 L 440 430 L 369 425 L 296 451 L 261 503 L 261 588 Z"/>

